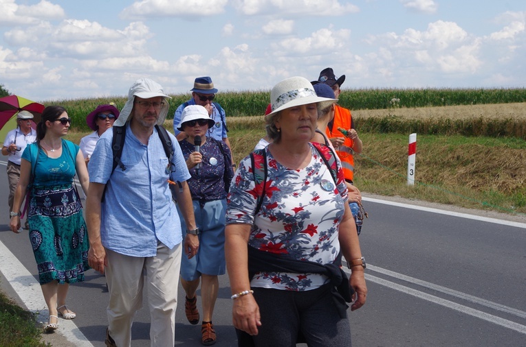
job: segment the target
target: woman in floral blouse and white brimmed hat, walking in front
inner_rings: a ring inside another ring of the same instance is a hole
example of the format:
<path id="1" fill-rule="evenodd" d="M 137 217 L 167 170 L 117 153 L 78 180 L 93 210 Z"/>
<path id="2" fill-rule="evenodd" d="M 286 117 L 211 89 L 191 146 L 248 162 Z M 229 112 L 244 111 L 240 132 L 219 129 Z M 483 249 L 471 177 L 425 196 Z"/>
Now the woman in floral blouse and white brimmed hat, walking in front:
<path id="1" fill-rule="evenodd" d="M 228 197 L 225 252 L 239 346 L 294 346 L 298 336 L 309 346 L 350 346 L 346 302 L 351 310 L 365 303 L 364 261 L 342 168 L 327 146 L 309 142 L 318 108 L 336 99 L 291 77 L 272 88 L 270 101 L 272 143 L 241 161 Z"/>

